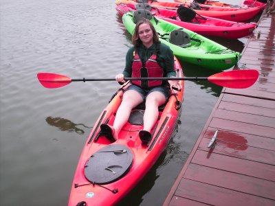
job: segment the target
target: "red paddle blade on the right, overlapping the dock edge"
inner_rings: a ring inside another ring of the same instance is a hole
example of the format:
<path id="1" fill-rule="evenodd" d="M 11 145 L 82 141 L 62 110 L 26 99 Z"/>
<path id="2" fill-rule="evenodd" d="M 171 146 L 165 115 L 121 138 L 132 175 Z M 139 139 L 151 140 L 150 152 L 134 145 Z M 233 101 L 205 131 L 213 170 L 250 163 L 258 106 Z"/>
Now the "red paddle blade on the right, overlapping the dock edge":
<path id="1" fill-rule="evenodd" d="M 255 69 L 232 70 L 216 73 L 208 77 L 208 81 L 222 87 L 243 89 L 252 86 L 258 77 L 259 71 Z"/>

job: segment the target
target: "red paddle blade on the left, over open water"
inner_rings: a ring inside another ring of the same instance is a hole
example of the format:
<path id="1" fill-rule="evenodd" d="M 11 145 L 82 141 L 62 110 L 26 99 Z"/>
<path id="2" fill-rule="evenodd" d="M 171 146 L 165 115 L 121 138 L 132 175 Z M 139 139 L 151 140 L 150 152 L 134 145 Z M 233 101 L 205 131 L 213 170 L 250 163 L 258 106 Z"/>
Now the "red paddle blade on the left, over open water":
<path id="1" fill-rule="evenodd" d="M 58 73 L 37 73 L 39 82 L 46 88 L 63 87 L 72 82 L 71 78 Z"/>

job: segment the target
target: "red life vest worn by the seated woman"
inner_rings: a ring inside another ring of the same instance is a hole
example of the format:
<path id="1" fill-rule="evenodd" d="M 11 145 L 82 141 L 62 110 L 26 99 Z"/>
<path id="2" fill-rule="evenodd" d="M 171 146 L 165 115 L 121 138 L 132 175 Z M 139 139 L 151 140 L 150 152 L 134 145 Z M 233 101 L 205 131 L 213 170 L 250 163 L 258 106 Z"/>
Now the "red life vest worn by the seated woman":
<path id="1" fill-rule="evenodd" d="M 140 60 L 140 56 L 135 50 L 135 56 L 133 57 L 132 65 L 132 78 L 162 78 L 164 77 L 164 69 L 157 63 L 157 55 L 152 54 L 150 58 L 143 64 Z M 156 52 L 154 52 L 156 53 Z M 136 84 L 144 89 L 149 87 L 157 87 L 162 85 L 162 80 L 132 80 L 133 84 Z"/>

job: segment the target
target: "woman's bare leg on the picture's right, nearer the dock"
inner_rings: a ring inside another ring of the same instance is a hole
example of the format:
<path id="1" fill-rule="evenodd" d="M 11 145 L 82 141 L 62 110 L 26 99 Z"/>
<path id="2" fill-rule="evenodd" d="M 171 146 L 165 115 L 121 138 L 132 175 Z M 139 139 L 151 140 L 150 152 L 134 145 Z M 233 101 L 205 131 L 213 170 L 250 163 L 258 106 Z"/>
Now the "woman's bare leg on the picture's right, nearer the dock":
<path id="1" fill-rule="evenodd" d="M 157 117 L 159 115 L 158 107 L 166 102 L 166 98 L 162 92 L 154 91 L 150 93 L 146 98 L 146 109 L 144 112 L 143 122 L 144 130 L 151 133 L 151 129 L 157 122 Z"/>

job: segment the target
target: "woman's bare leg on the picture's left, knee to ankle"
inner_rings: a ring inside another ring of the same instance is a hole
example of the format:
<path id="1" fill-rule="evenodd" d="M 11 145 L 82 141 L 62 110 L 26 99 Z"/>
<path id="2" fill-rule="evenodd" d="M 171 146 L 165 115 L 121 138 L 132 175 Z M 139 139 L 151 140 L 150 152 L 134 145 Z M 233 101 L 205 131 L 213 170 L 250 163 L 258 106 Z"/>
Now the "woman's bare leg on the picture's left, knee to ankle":
<path id="1" fill-rule="evenodd" d="M 135 108 L 135 106 L 142 102 L 140 93 L 135 90 L 128 90 L 123 94 L 122 102 L 115 115 L 115 122 L 113 122 L 115 130 L 113 137 L 115 139 L 118 139 L 118 133 L 120 133 L 122 126 L 128 121 L 132 108 Z"/>

